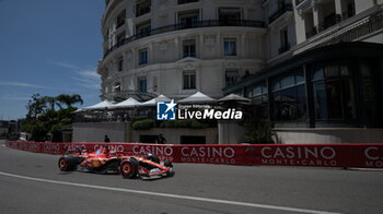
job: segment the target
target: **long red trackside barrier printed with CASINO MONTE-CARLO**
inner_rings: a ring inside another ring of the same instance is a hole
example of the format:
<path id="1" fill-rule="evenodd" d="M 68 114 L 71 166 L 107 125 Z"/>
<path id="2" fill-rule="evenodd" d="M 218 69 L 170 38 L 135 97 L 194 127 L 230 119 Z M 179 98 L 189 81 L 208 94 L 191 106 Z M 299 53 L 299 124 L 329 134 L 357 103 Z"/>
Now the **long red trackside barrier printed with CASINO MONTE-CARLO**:
<path id="1" fill-rule="evenodd" d="M 104 145 L 120 154 L 144 156 L 148 153 L 174 163 L 225 165 L 274 165 L 310 167 L 383 168 L 383 144 L 239 144 L 179 145 L 139 143 L 42 143 L 7 141 L 11 148 L 63 154 L 68 148 L 95 151 Z"/>

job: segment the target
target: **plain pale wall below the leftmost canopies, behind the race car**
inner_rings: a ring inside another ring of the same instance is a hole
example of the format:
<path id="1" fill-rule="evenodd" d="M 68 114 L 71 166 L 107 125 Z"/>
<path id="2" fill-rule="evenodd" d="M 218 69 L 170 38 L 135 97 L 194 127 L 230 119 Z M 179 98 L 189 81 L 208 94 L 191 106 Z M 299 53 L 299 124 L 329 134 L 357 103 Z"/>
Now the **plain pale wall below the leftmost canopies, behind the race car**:
<path id="1" fill-rule="evenodd" d="M 104 142 L 107 134 L 111 142 L 130 142 L 128 122 L 85 122 L 73 124 L 73 142 Z"/>

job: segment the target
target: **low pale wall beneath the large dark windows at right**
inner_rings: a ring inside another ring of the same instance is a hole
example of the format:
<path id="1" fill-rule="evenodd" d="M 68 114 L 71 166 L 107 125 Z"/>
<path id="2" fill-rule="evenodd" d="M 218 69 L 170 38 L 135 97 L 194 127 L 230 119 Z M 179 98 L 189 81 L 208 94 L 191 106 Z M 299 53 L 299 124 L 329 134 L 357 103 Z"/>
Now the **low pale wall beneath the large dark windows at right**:
<path id="1" fill-rule="evenodd" d="M 282 144 L 383 143 L 383 129 L 275 129 Z"/>

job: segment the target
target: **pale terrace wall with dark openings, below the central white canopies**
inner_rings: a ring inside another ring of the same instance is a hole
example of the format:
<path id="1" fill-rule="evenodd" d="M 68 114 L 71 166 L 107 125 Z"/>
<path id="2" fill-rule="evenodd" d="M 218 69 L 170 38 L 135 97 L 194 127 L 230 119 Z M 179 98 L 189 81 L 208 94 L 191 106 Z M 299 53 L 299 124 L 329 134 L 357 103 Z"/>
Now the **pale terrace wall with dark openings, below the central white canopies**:
<path id="1" fill-rule="evenodd" d="M 132 142 L 139 142 L 140 135 L 159 135 L 160 133 L 166 139 L 167 143 L 179 144 L 182 135 L 204 135 L 206 136 L 206 144 L 217 144 L 218 143 L 218 132 L 217 128 L 208 129 L 150 129 L 150 130 L 139 130 L 131 131 Z"/>

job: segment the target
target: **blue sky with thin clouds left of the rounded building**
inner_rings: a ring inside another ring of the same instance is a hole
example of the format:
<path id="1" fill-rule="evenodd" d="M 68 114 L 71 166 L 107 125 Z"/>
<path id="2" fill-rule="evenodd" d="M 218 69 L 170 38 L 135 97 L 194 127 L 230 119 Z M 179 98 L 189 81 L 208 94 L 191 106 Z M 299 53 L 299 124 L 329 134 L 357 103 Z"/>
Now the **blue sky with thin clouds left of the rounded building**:
<path id="1" fill-rule="evenodd" d="M 104 0 L 0 0 L 0 120 L 24 118 L 33 94 L 100 99 Z"/>

